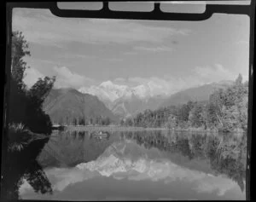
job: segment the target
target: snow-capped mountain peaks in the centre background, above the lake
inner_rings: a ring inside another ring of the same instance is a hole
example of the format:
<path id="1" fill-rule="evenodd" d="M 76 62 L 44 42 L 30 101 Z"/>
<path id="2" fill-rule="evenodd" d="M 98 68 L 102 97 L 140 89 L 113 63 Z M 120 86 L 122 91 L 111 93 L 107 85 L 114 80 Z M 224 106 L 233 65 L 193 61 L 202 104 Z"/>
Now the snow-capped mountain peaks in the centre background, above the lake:
<path id="1" fill-rule="evenodd" d="M 98 86 L 82 87 L 79 91 L 96 95 L 114 114 L 127 117 L 147 108 L 158 107 L 159 99 L 166 97 L 166 91 L 159 89 L 152 82 L 129 87 L 106 81 Z M 157 103 L 154 103 L 156 100 Z"/>

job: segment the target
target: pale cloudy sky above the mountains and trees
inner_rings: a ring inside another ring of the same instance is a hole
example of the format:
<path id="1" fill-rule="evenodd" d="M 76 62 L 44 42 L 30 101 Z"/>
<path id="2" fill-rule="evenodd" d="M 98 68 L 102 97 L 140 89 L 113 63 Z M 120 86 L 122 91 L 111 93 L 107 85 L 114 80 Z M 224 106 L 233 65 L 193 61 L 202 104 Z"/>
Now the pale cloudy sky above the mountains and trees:
<path id="1" fill-rule="evenodd" d="M 25 58 L 29 87 L 56 76 L 55 88 L 151 82 L 172 93 L 239 73 L 248 78 L 247 15 L 213 14 L 196 22 L 67 19 L 48 9 L 14 9 L 15 30 L 31 51 Z"/>

